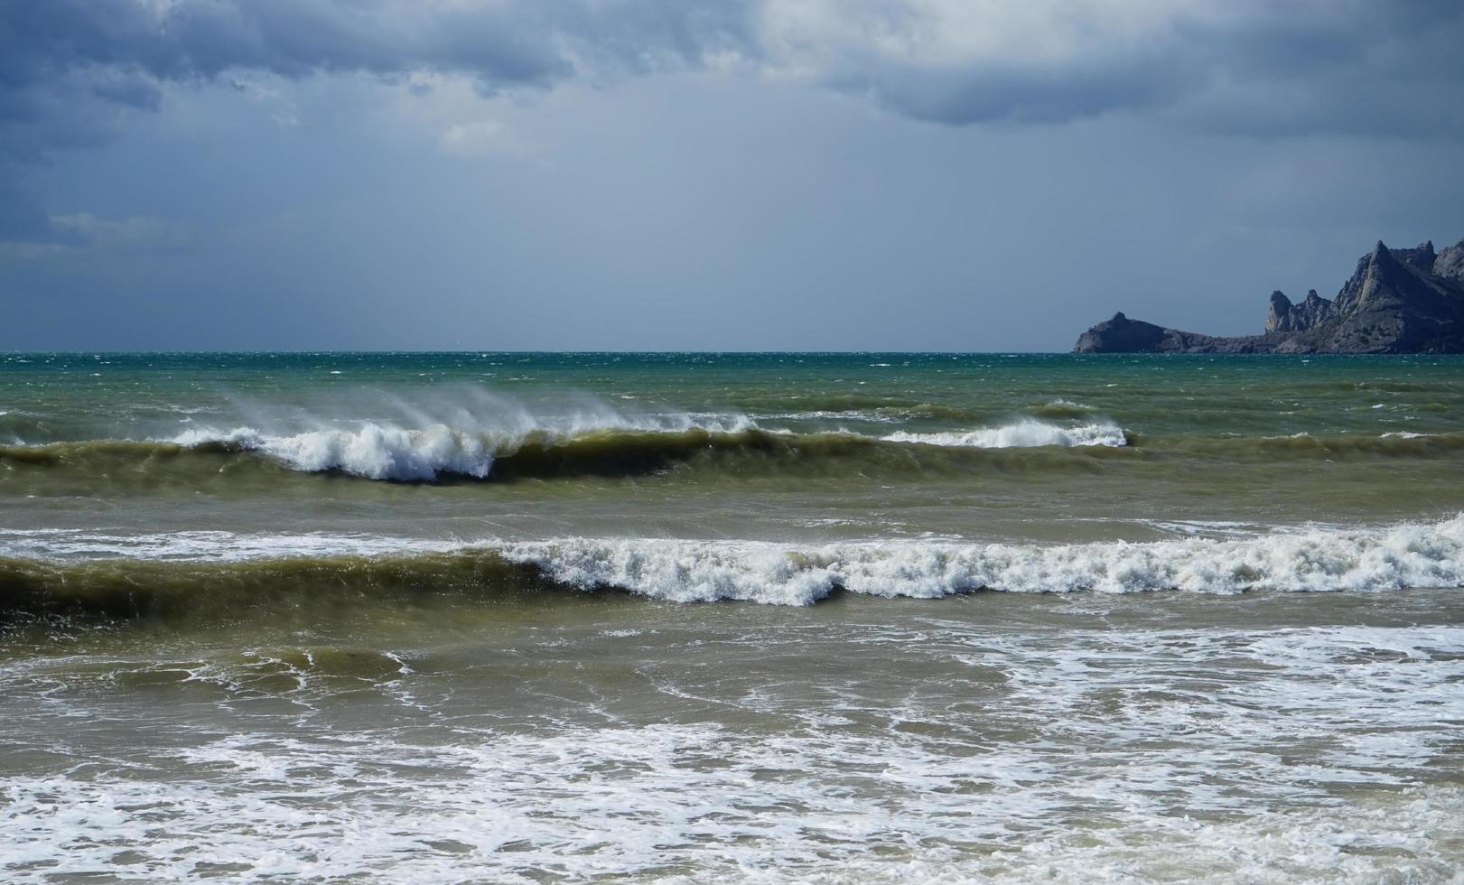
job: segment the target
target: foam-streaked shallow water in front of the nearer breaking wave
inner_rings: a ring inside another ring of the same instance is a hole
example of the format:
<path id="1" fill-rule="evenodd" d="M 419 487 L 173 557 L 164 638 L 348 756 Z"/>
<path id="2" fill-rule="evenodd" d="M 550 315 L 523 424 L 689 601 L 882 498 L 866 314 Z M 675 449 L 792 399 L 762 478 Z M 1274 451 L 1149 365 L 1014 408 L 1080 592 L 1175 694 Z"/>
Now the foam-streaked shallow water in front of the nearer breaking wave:
<path id="1" fill-rule="evenodd" d="M 470 658 L 378 651 L 388 666 L 366 679 L 307 648 L 201 661 L 165 642 L 9 667 L 15 743 L 44 753 L 0 786 L 0 870 L 1457 881 L 1457 626 L 682 629 L 632 639 L 628 690 L 583 705 L 558 696 L 586 693 L 572 664 L 632 630 L 534 625 L 542 644 Z M 473 682 L 499 667 L 534 677 Z M 139 676 L 151 704 L 127 693 Z M 662 721 L 641 721 L 649 698 Z M 116 740 L 126 726 L 136 740 Z"/>

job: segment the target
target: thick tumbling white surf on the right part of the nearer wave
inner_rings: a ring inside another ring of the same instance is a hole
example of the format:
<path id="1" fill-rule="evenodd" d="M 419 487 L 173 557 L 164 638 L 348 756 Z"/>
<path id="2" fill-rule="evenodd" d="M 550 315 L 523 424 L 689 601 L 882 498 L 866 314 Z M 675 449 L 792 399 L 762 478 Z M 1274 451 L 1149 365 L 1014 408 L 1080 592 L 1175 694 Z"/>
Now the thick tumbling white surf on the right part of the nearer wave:
<path id="1" fill-rule="evenodd" d="M 975 590 L 1236 594 L 1464 585 L 1464 515 L 1436 525 L 1240 540 L 1057 546 L 881 540 L 789 546 L 556 538 L 493 549 L 564 584 L 618 587 L 673 601 L 805 606 L 839 587 L 870 595 L 931 598 Z"/>

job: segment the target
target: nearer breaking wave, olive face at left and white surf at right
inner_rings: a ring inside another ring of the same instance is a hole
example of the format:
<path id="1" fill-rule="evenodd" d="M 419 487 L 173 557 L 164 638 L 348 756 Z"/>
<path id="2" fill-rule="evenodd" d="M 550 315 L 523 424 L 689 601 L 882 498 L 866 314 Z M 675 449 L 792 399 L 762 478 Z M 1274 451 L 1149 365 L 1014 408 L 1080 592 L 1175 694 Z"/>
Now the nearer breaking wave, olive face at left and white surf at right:
<path id="1" fill-rule="evenodd" d="M 363 594 L 422 600 L 553 588 L 618 590 L 675 603 L 807 606 L 836 591 L 935 598 L 975 591 L 1239 594 L 1464 585 L 1464 515 L 1383 530 L 1056 546 L 567 537 L 403 541 L 384 553 L 391 544 L 373 537 L 239 543 L 227 532 L 110 544 L 88 547 L 85 537 L 64 532 L 0 535 L 0 600 L 12 611 L 217 616 L 230 607 L 354 606 Z"/>

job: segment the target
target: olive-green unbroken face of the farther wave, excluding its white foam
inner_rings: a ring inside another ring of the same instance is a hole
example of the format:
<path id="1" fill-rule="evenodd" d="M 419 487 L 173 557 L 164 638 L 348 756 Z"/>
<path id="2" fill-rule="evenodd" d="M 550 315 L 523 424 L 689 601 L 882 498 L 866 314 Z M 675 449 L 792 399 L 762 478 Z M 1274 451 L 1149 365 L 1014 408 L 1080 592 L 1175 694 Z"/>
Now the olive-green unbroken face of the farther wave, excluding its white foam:
<path id="1" fill-rule="evenodd" d="M 1083 474 L 1105 464 L 1446 459 L 1464 433 L 1432 436 L 1148 437 L 1127 446 L 960 448 L 886 442 L 849 433 L 679 433 L 605 430 L 571 439 L 530 436 L 493 456 L 486 478 L 439 474 L 436 484 L 568 481 L 671 474 L 687 480 L 747 475 Z M 360 481 L 341 471 L 305 472 L 271 455 L 214 442 L 86 440 L 0 446 L 0 489 L 78 493 L 146 489 L 268 490 L 288 484 Z"/>

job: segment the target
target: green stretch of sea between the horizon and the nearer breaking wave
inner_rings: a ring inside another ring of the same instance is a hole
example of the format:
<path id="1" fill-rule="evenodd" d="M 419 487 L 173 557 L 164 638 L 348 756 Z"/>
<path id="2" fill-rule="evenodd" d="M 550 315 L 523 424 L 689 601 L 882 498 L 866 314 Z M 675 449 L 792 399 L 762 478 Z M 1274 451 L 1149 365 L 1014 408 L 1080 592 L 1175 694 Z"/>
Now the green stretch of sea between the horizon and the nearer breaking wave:
<path id="1" fill-rule="evenodd" d="M 373 531 L 378 503 L 392 506 L 388 535 L 461 540 L 1375 525 L 1461 509 L 1461 369 L 1449 357 L 12 355 L 0 494 L 16 527 L 37 528 L 85 528 L 76 500 L 122 497 L 123 534 Z"/>

